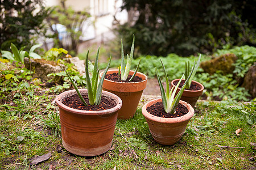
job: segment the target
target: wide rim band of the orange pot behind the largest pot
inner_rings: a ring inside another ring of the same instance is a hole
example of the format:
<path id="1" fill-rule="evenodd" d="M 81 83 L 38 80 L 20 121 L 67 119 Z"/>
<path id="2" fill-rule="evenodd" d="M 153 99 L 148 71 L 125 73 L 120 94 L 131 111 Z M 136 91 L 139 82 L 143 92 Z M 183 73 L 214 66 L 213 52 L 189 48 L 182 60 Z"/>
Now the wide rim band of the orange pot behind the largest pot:
<path id="1" fill-rule="evenodd" d="M 130 70 L 129 74 L 133 74 L 135 71 Z M 117 69 L 113 70 L 108 70 L 107 74 L 112 74 L 112 73 L 118 73 Z M 102 76 L 103 72 L 100 73 L 100 78 Z M 109 79 L 104 79 L 103 87 L 106 86 L 106 84 L 110 84 L 108 90 L 112 91 L 122 91 L 122 92 L 136 92 L 136 91 L 142 91 L 146 88 L 147 84 L 147 75 L 137 71 L 136 73 L 137 76 L 141 77 L 143 80 L 141 82 L 114 82 Z M 118 87 L 123 87 L 119 88 Z M 104 87 L 105 88 L 105 87 Z"/>

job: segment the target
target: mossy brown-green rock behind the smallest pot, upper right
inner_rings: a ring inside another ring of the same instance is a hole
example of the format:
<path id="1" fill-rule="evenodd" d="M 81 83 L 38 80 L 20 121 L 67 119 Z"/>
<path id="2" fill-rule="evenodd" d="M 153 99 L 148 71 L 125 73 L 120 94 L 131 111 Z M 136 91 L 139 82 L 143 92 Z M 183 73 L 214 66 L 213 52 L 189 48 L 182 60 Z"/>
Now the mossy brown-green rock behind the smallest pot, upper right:
<path id="1" fill-rule="evenodd" d="M 217 70 L 223 71 L 224 74 L 230 74 L 234 71 L 233 63 L 237 60 L 235 54 L 223 54 L 220 57 L 201 62 L 201 67 L 209 74 L 216 73 Z"/>

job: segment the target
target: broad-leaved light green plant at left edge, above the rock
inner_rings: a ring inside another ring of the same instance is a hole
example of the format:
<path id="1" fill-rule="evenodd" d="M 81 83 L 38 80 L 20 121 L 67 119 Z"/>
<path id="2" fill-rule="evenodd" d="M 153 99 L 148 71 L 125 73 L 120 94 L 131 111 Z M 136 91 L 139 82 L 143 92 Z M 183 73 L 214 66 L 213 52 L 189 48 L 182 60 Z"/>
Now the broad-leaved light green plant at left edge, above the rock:
<path id="1" fill-rule="evenodd" d="M 18 48 L 13 43 L 11 43 L 10 49 L 11 49 L 11 52 L 13 53 L 5 50 L 1 50 L 1 53 L 2 53 L 2 57 L 10 59 L 11 61 L 18 61 L 18 62 L 24 63 L 25 57 L 41 58 L 38 54 L 34 52 L 34 50 L 36 48 L 39 48 L 40 46 L 42 46 L 42 44 L 33 45 L 30 48 L 30 51 L 26 52 L 23 50 L 25 48 L 24 46 L 18 50 Z"/>

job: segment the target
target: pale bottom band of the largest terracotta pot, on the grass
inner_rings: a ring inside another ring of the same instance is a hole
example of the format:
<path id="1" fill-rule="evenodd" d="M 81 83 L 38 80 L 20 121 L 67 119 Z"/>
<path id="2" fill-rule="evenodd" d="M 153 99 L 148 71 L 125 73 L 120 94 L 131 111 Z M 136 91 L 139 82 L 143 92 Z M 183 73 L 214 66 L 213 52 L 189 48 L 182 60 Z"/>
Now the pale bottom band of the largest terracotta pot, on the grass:
<path id="1" fill-rule="evenodd" d="M 79 147 L 71 146 L 64 140 L 62 140 L 62 144 L 64 148 L 67 151 L 71 152 L 72 154 L 80 155 L 80 156 L 96 156 L 96 155 L 101 155 L 102 153 L 105 153 L 106 151 L 108 151 L 112 146 L 112 141 L 105 146 L 95 147 L 95 148 L 79 148 Z"/>

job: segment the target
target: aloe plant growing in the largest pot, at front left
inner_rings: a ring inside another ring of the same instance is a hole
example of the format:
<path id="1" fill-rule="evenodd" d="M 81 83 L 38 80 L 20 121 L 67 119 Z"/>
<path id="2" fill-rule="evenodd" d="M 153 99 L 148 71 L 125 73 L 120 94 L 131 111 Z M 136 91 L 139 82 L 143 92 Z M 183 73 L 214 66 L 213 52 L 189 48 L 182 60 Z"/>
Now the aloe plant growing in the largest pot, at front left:
<path id="1" fill-rule="evenodd" d="M 101 94 L 102 94 L 102 85 L 103 85 L 103 80 L 105 78 L 106 72 L 109 69 L 110 63 L 111 63 L 111 55 L 110 55 L 110 59 L 109 59 L 109 63 L 108 66 L 106 67 L 104 73 L 102 74 L 102 77 L 100 79 L 100 82 L 98 82 L 98 74 L 99 74 L 99 69 L 98 69 L 98 54 L 100 52 L 100 48 L 98 48 L 98 52 L 96 54 L 96 59 L 95 59 L 95 63 L 94 63 L 94 67 L 93 67 L 93 75 L 92 75 L 92 80 L 90 80 L 90 76 L 89 76 L 89 69 L 88 69 L 88 55 L 89 55 L 89 49 L 88 52 L 86 54 L 86 58 L 85 58 L 85 79 L 86 79 L 86 84 L 87 84 L 87 90 L 88 90 L 88 99 L 89 99 L 89 104 L 90 105 L 98 105 L 101 102 Z M 88 105 L 86 103 L 86 101 L 84 100 L 84 98 L 82 98 L 82 95 L 80 94 L 75 82 L 72 80 L 71 76 L 68 74 L 67 70 L 65 70 L 69 80 L 71 81 L 71 83 L 73 84 L 77 94 L 80 97 L 80 100 L 82 101 L 82 103 L 84 103 L 84 105 Z"/>

